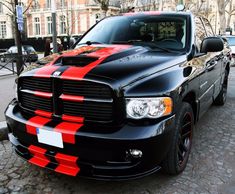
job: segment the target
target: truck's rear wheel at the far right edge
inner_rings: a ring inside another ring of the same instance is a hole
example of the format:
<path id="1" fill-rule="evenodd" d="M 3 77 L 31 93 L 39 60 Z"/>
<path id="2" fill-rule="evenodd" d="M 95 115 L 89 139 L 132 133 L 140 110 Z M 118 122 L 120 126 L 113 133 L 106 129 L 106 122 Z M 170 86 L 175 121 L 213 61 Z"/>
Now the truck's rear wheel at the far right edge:
<path id="1" fill-rule="evenodd" d="M 214 100 L 214 104 L 218 106 L 223 106 L 227 99 L 227 88 L 228 88 L 228 71 L 225 70 L 224 81 L 219 95 Z"/>

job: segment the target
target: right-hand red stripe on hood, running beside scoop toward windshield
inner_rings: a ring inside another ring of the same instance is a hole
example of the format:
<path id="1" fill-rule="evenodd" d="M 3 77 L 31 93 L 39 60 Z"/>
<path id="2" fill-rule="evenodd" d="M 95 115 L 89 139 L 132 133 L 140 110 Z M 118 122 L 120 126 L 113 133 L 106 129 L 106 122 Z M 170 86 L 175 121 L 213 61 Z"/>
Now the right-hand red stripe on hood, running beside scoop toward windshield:
<path id="1" fill-rule="evenodd" d="M 130 47 L 130 45 L 115 45 L 115 47 L 106 47 L 89 53 L 86 56 L 99 57 L 99 59 L 86 65 L 85 67 L 69 67 L 64 73 L 62 73 L 61 78 L 70 80 L 81 80 L 87 73 L 89 73 L 102 61 L 104 61 L 107 57 Z"/>

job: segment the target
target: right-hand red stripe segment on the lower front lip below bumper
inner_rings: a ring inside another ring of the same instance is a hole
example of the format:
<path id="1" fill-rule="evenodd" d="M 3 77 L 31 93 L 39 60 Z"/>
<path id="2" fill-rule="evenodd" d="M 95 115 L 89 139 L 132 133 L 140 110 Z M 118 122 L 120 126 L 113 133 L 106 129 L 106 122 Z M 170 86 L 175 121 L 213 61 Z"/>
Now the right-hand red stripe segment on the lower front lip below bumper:
<path id="1" fill-rule="evenodd" d="M 76 176 L 79 173 L 80 168 L 76 163 L 78 157 L 58 153 L 55 155 L 55 159 L 59 163 L 58 167 L 55 169 L 56 172 L 71 176 Z"/>

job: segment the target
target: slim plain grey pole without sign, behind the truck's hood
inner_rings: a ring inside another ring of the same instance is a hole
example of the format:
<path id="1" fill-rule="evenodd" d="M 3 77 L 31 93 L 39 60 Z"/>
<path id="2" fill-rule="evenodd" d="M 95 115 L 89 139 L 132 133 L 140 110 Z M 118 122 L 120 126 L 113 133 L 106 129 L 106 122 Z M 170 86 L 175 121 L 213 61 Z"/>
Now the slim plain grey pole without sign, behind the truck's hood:
<path id="1" fill-rule="evenodd" d="M 53 53 L 57 53 L 56 2 L 55 2 L 55 0 L 51 0 L 51 16 L 52 16 Z"/>

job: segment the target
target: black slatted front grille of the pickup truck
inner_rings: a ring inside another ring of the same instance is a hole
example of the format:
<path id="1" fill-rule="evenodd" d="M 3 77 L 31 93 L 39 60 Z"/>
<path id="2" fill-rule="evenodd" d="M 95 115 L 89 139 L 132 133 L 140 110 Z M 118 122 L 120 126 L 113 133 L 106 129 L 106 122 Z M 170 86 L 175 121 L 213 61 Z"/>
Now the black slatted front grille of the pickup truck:
<path id="1" fill-rule="evenodd" d="M 27 110 L 44 110 L 53 112 L 55 108 L 61 110 L 61 116 L 82 116 L 89 121 L 111 122 L 113 119 L 113 98 L 112 90 L 109 86 L 91 81 L 73 81 L 73 80 L 54 80 L 61 84 L 60 93 L 53 94 L 53 98 L 35 96 L 33 92 L 53 93 L 53 78 L 34 78 L 23 77 L 19 80 L 20 90 L 30 90 L 30 93 L 19 93 L 21 106 Z M 60 95 L 83 96 L 85 101 L 73 102 L 60 100 L 53 107 L 53 99 L 59 98 Z M 56 96 L 58 95 L 58 96 Z"/>

